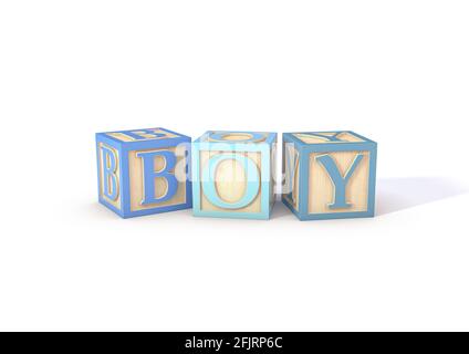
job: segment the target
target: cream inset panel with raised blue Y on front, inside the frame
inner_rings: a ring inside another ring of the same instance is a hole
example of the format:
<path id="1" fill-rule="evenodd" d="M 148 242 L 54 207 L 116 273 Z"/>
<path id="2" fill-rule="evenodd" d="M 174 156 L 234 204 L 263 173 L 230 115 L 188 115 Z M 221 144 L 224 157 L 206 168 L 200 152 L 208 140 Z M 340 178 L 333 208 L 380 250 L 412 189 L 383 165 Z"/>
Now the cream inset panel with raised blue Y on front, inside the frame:
<path id="1" fill-rule="evenodd" d="M 310 154 L 309 214 L 368 210 L 369 152 Z"/>

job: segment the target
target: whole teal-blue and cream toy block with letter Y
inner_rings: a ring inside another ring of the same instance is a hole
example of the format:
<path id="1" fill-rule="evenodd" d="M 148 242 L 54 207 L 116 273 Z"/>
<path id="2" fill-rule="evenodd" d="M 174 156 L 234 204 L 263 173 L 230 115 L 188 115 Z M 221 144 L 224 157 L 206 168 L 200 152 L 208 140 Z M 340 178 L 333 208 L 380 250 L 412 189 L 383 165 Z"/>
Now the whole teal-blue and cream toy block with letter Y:
<path id="1" fill-rule="evenodd" d="M 376 154 L 353 132 L 284 133 L 282 201 L 300 220 L 373 217 Z"/>

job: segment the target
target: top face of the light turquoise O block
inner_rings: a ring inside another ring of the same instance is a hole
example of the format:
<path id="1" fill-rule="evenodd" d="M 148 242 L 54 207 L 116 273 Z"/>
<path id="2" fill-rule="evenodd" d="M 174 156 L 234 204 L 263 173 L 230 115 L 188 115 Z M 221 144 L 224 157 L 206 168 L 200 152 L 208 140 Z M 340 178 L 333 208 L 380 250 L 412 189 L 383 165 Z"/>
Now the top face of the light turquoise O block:
<path id="1" fill-rule="evenodd" d="M 196 143 L 272 144 L 275 136 L 267 132 L 208 131 Z"/>

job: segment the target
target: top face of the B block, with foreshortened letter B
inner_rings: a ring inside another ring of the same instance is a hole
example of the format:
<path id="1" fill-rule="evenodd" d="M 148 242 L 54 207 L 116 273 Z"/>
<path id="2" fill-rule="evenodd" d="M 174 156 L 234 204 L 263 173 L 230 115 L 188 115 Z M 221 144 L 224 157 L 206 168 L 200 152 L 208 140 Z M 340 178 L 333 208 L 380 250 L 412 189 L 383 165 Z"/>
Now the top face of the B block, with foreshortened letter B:
<path id="1" fill-rule="evenodd" d="M 188 138 L 183 134 L 178 134 L 165 128 L 144 128 L 132 131 L 105 132 L 98 133 L 105 135 L 117 143 L 142 143 L 163 139 Z"/>

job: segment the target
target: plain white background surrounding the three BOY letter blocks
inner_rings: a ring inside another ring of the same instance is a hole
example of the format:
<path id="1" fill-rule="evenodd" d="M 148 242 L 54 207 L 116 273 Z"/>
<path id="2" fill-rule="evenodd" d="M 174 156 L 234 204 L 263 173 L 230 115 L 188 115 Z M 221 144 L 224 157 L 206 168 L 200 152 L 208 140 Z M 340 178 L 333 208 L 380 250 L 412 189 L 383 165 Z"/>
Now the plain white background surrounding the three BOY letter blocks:
<path id="1" fill-rule="evenodd" d="M 468 1 L 2 1 L 0 330 L 469 330 Z M 353 129 L 377 217 L 122 220 L 94 133 Z"/>

